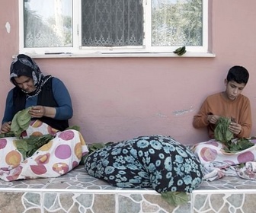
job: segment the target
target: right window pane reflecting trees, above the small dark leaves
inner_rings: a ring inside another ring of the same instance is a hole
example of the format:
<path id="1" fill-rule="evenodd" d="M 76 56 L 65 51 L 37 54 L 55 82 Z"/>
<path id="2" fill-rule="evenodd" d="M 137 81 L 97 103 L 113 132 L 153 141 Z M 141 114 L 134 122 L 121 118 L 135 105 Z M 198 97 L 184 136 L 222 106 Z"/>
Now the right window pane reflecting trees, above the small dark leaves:
<path id="1" fill-rule="evenodd" d="M 152 46 L 202 46 L 201 0 L 152 0 Z"/>

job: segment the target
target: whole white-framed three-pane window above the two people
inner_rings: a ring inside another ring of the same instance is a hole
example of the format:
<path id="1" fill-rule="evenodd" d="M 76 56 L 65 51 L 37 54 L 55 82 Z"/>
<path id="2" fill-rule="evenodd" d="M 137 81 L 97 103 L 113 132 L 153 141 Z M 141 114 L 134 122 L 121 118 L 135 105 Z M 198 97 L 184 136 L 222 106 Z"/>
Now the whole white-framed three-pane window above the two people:
<path id="1" fill-rule="evenodd" d="M 208 50 L 207 0 L 20 0 L 20 52 Z"/>

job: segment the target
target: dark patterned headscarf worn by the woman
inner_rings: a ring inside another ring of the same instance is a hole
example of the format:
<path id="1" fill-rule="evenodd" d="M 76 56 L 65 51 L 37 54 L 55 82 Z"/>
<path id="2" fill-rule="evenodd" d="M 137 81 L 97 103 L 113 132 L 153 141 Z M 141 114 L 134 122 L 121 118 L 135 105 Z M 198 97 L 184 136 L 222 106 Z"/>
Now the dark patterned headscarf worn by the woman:
<path id="1" fill-rule="evenodd" d="M 36 87 L 36 90 L 30 94 L 33 96 L 40 93 L 41 87 L 49 79 L 49 78 L 44 79 L 44 75 L 40 71 L 40 68 L 38 67 L 37 63 L 34 62 L 34 60 L 30 58 L 30 56 L 27 56 L 24 54 L 18 55 L 17 58 L 14 59 L 13 62 L 11 62 L 11 68 L 10 68 L 11 83 L 17 86 L 14 78 L 20 77 L 20 76 L 27 76 L 33 79 L 34 86 Z M 27 92 L 24 91 L 24 93 L 27 93 Z"/>

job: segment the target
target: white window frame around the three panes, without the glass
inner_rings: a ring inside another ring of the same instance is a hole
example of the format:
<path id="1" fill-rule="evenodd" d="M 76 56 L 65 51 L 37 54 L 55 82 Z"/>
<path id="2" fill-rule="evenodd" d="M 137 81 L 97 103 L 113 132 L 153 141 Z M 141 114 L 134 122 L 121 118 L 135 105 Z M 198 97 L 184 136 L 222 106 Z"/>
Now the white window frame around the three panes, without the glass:
<path id="1" fill-rule="evenodd" d="M 19 52 L 38 56 L 177 56 L 172 51 L 179 46 L 151 46 L 151 0 L 142 0 L 144 11 L 144 40 L 142 46 L 85 47 L 81 43 L 81 1 L 73 0 L 73 47 L 24 48 L 24 0 L 19 0 Z M 208 49 L 208 1 L 203 0 L 203 45 L 187 46 L 186 56 L 214 56 Z M 149 39 L 147 39 L 149 38 Z M 184 55 L 184 56 L 185 56 Z"/>

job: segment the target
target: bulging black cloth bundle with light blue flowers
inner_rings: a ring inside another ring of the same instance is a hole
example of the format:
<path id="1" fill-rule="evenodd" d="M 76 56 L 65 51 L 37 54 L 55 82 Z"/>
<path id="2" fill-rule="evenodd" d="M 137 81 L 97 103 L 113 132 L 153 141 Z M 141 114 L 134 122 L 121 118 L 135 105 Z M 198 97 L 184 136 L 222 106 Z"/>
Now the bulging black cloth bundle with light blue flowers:
<path id="1" fill-rule="evenodd" d="M 192 192 L 203 180 L 202 166 L 184 145 L 169 136 L 140 136 L 106 145 L 85 160 L 91 176 L 122 188 Z"/>

